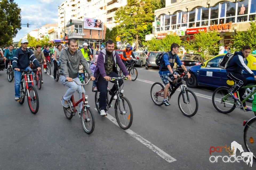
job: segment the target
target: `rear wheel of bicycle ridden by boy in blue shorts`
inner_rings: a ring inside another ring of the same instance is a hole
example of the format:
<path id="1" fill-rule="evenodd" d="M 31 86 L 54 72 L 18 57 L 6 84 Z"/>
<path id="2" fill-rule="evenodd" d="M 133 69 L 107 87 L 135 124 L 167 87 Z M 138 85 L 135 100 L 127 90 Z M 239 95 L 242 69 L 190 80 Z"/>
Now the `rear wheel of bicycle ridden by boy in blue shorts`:
<path id="1" fill-rule="evenodd" d="M 161 106 L 163 104 L 163 90 L 164 90 L 164 87 L 159 82 L 156 82 L 151 86 L 151 89 L 150 89 L 151 99 L 157 106 Z"/>

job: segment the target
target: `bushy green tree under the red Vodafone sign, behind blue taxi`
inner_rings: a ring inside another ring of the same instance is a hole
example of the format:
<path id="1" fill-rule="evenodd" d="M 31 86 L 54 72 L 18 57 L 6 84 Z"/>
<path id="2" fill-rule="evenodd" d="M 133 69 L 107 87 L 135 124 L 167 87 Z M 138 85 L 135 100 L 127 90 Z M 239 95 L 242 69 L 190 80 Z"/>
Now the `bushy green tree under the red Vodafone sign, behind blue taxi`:
<path id="1" fill-rule="evenodd" d="M 210 55 L 215 55 L 219 52 L 219 41 L 222 39 L 218 36 L 217 31 L 200 32 L 194 34 L 195 42 L 186 45 L 186 49 L 193 50 L 195 54 L 201 54 L 202 58 L 209 59 Z"/>

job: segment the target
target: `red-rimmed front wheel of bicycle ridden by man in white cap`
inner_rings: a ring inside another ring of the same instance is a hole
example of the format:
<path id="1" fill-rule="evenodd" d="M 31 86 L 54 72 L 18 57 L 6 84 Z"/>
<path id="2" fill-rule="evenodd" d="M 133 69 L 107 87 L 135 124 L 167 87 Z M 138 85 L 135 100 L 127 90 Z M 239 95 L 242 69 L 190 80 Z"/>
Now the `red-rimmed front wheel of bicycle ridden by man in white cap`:
<path id="1" fill-rule="evenodd" d="M 31 113 L 36 114 L 39 109 L 39 98 L 38 98 L 37 90 L 35 89 L 34 86 L 29 86 L 27 103 L 29 104 L 29 109 Z"/>

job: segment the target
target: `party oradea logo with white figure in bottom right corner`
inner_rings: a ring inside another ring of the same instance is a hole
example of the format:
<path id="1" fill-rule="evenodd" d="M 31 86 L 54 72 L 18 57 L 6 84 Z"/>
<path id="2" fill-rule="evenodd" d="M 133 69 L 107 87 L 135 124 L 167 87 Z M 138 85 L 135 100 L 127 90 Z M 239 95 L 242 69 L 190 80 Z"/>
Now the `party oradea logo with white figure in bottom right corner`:
<path id="1" fill-rule="evenodd" d="M 238 154 L 236 154 L 236 152 L 238 151 Z M 224 162 L 224 163 L 235 163 L 235 162 L 244 162 L 246 163 L 246 165 L 252 167 L 253 165 L 253 153 L 252 152 L 245 152 L 242 148 L 242 145 L 240 145 L 239 143 L 237 143 L 236 141 L 233 141 L 231 143 L 231 146 L 227 146 L 227 144 L 225 144 L 225 146 L 217 146 L 217 147 L 210 147 L 209 149 L 210 151 L 210 162 L 211 163 L 217 163 L 217 162 Z M 225 152 L 228 154 L 228 156 L 220 156 L 217 155 L 215 153 L 219 153 L 219 152 Z M 214 156 L 213 156 L 214 155 Z"/>

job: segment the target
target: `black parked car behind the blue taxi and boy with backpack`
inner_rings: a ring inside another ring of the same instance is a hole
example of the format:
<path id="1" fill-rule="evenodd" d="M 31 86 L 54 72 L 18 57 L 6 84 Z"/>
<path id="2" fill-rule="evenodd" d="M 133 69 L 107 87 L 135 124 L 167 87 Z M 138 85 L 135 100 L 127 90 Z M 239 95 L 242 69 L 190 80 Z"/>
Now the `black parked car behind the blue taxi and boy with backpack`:
<path id="1" fill-rule="evenodd" d="M 185 67 L 190 67 L 200 65 L 203 59 L 200 54 L 184 54 L 181 56 L 181 62 Z M 177 70 L 183 72 L 181 66 L 177 66 Z"/>

